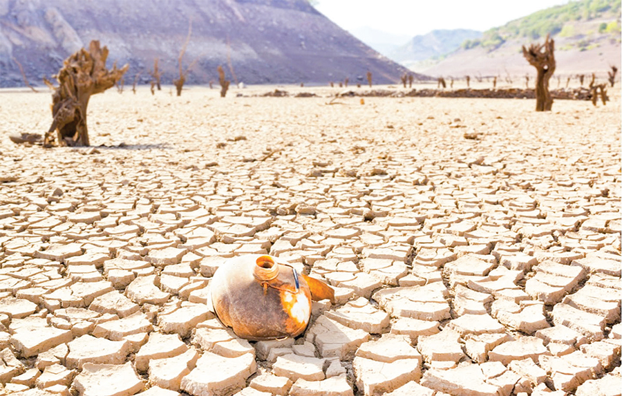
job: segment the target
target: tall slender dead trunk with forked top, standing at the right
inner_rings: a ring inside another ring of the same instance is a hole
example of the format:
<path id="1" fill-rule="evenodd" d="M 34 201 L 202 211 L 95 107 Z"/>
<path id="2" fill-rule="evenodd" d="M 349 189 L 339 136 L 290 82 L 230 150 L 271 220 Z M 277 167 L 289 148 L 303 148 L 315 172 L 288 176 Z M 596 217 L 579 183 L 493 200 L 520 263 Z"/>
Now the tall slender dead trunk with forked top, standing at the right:
<path id="1" fill-rule="evenodd" d="M 538 70 L 536 77 L 536 111 L 551 111 L 553 97 L 549 93 L 549 79 L 555 73 L 555 42 L 547 35 L 544 44 L 522 46 L 522 55 Z"/>

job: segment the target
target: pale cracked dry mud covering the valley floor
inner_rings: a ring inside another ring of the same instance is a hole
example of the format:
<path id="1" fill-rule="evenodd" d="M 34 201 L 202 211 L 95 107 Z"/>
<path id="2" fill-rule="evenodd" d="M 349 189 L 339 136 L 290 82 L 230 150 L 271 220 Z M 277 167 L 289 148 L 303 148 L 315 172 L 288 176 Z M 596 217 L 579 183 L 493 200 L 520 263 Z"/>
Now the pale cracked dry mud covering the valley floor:
<path id="1" fill-rule="evenodd" d="M 49 94 L 0 93 L 0 395 L 620 395 L 619 93 L 216 91 L 96 95 L 48 150 L 7 134 Z M 239 339 L 209 281 L 250 253 L 337 304 Z"/>

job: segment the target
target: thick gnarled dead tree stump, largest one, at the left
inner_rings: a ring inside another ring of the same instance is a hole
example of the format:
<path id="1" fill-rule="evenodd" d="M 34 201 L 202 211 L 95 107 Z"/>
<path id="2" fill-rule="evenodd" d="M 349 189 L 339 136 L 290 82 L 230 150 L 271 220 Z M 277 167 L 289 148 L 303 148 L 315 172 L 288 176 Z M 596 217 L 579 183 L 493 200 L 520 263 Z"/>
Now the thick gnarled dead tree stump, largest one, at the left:
<path id="1" fill-rule="evenodd" d="M 100 47 L 100 41 L 93 40 L 88 51 L 82 48 L 71 55 L 55 76 L 59 86 L 52 93 L 53 122 L 46 133 L 44 147 L 51 147 L 57 135 L 57 144 L 88 146 L 86 128 L 86 106 L 91 95 L 112 88 L 129 68 L 106 69 L 108 48 Z"/>

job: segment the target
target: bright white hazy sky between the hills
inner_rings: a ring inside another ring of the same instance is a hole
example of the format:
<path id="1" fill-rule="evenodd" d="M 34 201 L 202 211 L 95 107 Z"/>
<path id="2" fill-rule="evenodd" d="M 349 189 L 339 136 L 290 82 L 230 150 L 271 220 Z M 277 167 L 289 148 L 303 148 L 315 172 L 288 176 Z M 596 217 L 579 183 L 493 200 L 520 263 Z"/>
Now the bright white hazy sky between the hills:
<path id="1" fill-rule="evenodd" d="M 341 28 L 368 26 L 395 35 L 434 29 L 487 30 L 568 0 L 317 0 L 315 8 Z"/>

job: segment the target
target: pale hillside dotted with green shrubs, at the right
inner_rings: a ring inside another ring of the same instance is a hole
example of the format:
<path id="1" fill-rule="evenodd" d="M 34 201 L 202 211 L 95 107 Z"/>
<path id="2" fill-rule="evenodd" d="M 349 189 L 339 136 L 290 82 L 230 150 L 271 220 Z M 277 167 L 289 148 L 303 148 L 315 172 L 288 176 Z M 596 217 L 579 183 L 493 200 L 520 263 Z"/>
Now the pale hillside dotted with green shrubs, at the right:
<path id="1" fill-rule="evenodd" d="M 406 66 L 434 76 L 505 78 L 535 74 L 523 59 L 521 48 L 551 35 L 555 40 L 556 75 L 596 73 L 605 77 L 610 66 L 620 67 L 620 10 L 619 0 L 570 1 L 487 30 L 480 38 L 464 41 L 452 53 Z"/>

